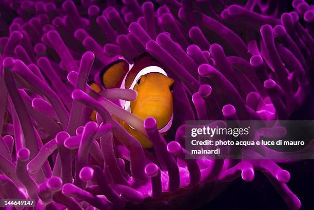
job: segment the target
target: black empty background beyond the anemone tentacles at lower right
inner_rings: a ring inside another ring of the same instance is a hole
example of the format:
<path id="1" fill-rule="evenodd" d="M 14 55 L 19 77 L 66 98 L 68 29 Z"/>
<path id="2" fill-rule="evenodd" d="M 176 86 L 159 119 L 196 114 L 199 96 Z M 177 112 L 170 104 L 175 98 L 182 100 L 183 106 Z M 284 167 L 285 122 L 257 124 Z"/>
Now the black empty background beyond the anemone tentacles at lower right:
<path id="1" fill-rule="evenodd" d="M 312 80 L 313 81 L 313 80 Z M 290 116 L 291 120 L 314 120 L 314 88 L 308 94 L 304 105 Z M 313 128 L 314 129 L 314 128 Z M 314 209 L 314 160 L 303 160 L 295 163 L 280 164 L 287 170 L 291 179 L 288 187 L 298 196 L 301 208 Z M 241 178 L 233 183 L 217 198 L 199 210 L 233 210 L 233 209 L 289 209 L 283 198 L 260 171 L 255 171 L 251 182 Z"/>

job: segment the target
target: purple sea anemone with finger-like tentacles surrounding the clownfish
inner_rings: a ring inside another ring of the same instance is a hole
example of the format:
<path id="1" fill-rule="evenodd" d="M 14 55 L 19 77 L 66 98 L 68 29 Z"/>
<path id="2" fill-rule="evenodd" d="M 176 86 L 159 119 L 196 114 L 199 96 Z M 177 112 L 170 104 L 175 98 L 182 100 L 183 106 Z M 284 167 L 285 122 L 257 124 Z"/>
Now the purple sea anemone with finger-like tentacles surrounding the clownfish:
<path id="1" fill-rule="evenodd" d="M 286 184 L 290 174 L 276 161 L 185 159 L 184 132 L 186 120 L 283 120 L 302 106 L 314 7 L 295 0 L 286 12 L 280 1 L 217 2 L 1 2 L 0 197 L 35 199 L 36 209 L 171 206 L 161 204 L 169 194 L 240 176 L 252 181 L 260 170 L 299 209 Z M 153 118 L 143 121 L 111 100 L 134 100 L 135 91 L 96 93 L 87 85 L 100 83 L 97 74 L 116 57 L 131 61 L 144 52 L 175 80 L 165 137 Z M 93 110 L 97 122 L 89 121 Z"/>

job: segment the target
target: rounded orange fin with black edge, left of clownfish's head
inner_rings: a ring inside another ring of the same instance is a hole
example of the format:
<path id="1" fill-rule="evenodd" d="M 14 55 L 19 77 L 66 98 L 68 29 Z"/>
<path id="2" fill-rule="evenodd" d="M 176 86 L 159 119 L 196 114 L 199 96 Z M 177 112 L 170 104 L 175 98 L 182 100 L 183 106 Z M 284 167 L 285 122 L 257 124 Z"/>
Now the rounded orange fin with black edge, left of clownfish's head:
<path id="1" fill-rule="evenodd" d="M 120 88 L 121 82 L 129 71 L 129 64 L 123 59 L 116 60 L 103 68 L 100 80 L 106 89 Z"/>

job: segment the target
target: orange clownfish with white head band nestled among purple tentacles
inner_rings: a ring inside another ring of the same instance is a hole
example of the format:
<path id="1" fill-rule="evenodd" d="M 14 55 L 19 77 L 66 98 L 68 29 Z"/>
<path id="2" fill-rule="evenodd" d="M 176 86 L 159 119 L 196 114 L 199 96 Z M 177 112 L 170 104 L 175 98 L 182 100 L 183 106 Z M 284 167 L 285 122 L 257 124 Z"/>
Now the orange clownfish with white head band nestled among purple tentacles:
<path id="1" fill-rule="evenodd" d="M 168 77 L 163 66 L 148 54 L 142 54 L 129 64 L 124 59 L 118 59 L 100 72 L 99 79 L 105 89 L 133 89 L 138 93 L 134 101 L 122 101 L 121 107 L 138 116 L 142 120 L 153 117 L 161 134 L 171 127 L 173 119 L 172 89 L 174 80 Z M 95 83 L 91 88 L 100 91 Z M 95 117 L 95 113 L 93 114 Z M 123 127 L 135 137 L 144 148 L 151 148 L 152 143 L 140 132 L 133 129 L 123 120 Z"/>

